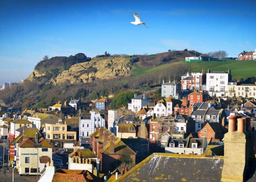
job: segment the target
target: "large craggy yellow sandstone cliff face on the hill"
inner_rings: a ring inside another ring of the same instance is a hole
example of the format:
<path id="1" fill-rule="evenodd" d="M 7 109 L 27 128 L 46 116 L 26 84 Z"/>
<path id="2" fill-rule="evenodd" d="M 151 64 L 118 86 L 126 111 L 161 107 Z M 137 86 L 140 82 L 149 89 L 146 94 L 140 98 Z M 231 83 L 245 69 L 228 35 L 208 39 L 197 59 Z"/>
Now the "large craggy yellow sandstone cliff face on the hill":
<path id="1" fill-rule="evenodd" d="M 60 84 L 68 81 L 75 84 L 79 82 L 88 83 L 96 79 L 116 78 L 120 75 L 130 74 L 131 66 L 130 58 L 94 58 L 89 62 L 74 64 L 69 70 L 63 71 L 50 82 Z"/>

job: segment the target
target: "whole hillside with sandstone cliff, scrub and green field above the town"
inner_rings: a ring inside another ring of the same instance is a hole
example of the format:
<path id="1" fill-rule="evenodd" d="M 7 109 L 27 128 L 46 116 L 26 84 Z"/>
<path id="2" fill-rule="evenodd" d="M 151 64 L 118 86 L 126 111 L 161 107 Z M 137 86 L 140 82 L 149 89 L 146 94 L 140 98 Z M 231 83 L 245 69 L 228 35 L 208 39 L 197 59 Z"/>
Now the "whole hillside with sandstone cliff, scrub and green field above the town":
<path id="1" fill-rule="evenodd" d="M 183 55 L 193 53 L 181 52 Z M 3 100 L 7 106 L 26 108 L 48 107 L 59 100 L 64 101 L 71 97 L 80 97 L 82 101 L 89 101 L 100 96 L 116 95 L 122 91 L 146 92 L 149 96 L 157 98 L 163 79 L 180 80 L 185 72 L 189 70 L 201 72 L 203 68 L 226 72 L 231 69 L 233 79 L 239 78 L 240 81 L 247 83 L 255 81 L 255 61 L 189 63 L 180 55 L 171 58 L 172 54 L 179 54 L 179 51 L 156 55 L 84 58 L 69 62 L 67 57 L 51 58 L 49 59 L 51 61 L 41 62 L 35 67 L 34 73 L 36 72 L 37 76 L 34 75 L 24 83 L 14 84 L 0 91 L 0 100 Z M 165 58 L 166 60 L 168 58 L 168 61 L 163 61 Z M 77 61 L 83 62 L 77 63 Z M 58 69 L 58 74 L 51 72 L 55 69 Z M 51 77 L 44 74 L 49 74 Z"/>

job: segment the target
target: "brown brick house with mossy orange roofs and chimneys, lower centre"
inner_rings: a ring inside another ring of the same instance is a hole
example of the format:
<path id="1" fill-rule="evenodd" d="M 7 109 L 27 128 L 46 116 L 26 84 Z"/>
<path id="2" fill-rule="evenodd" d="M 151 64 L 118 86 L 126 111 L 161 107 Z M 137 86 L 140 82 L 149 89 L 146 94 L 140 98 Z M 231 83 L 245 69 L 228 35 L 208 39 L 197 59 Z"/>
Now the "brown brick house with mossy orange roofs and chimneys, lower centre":
<path id="1" fill-rule="evenodd" d="M 127 156 L 135 164 L 136 153 L 105 127 L 90 135 L 90 145 L 101 161 L 102 172 L 115 170 L 120 160 Z"/>

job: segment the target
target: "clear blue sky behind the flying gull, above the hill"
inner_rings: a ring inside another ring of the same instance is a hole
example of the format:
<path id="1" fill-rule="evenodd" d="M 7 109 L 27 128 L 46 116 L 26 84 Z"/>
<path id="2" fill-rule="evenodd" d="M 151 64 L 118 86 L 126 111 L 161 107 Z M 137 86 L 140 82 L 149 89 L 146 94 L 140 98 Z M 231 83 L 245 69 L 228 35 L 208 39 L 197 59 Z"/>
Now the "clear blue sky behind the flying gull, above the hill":
<path id="1" fill-rule="evenodd" d="M 133 13 L 148 28 L 135 26 Z M 1 0 L 0 84 L 20 82 L 44 55 L 88 57 L 193 49 L 256 49 L 255 0 Z"/>

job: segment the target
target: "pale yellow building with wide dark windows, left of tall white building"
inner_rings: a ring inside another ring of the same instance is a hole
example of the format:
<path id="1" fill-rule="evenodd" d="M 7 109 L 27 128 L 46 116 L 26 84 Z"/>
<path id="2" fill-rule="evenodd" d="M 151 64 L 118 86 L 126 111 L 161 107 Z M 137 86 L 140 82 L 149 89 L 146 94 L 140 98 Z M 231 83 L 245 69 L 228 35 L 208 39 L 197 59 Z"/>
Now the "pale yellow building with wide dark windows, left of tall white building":
<path id="1" fill-rule="evenodd" d="M 67 131 L 67 124 L 45 124 L 46 139 L 53 142 L 53 147 L 64 147 L 65 143 L 76 142 L 76 131 Z"/>

